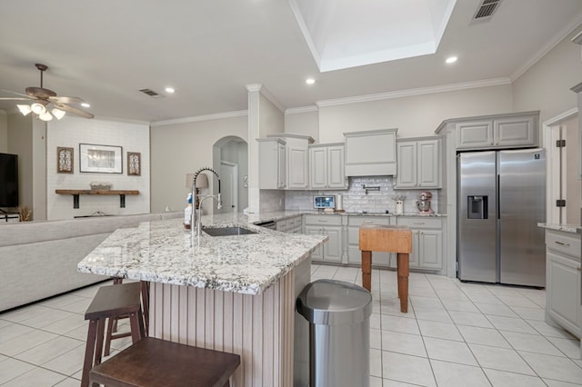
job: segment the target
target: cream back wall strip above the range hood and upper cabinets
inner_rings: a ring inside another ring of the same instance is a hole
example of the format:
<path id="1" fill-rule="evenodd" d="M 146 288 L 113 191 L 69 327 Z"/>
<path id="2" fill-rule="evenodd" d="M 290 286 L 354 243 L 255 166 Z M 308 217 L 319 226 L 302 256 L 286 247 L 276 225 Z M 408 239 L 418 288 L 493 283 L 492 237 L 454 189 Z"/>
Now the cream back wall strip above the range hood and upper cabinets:
<path id="1" fill-rule="evenodd" d="M 435 134 L 449 118 L 511 113 L 510 84 L 319 107 L 319 142 L 344 141 L 344 132 L 397 128 L 398 137 Z"/>

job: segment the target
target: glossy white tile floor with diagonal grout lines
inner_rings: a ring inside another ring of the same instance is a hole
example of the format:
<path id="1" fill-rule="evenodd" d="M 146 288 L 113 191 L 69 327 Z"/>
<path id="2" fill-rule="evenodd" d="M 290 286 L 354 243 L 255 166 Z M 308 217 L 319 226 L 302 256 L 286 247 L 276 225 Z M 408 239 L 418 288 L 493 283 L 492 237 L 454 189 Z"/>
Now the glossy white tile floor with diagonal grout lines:
<path id="1" fill-rule="evenodd" d="M 312 278 L 361 284 L 356 268 L 313 265 Z M 0 385 L 78 386 L 83 315 L 103 284 L 0 313 Z M 371 387 L 582 385 L 579 341 L 545 323 L 544 291 L 411 273 L 400 313 L 396 289 L 395 272 L 373 271 Z"/>

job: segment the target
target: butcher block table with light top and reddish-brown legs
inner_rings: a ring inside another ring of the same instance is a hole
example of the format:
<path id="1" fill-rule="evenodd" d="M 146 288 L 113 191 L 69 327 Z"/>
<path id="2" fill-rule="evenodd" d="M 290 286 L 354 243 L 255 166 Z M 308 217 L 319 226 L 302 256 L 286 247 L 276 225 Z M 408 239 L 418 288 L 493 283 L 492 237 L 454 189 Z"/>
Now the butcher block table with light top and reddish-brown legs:
<path id="1" fill-rule="evenodd" d="M 372 252 L 397 253 L 398 298 L 400 312 L 408 313 L 409 253 L 412 232 L 404 226 L 366 224 L 359 229 L 362 251 L 362 286 L 372 291 Z"/>

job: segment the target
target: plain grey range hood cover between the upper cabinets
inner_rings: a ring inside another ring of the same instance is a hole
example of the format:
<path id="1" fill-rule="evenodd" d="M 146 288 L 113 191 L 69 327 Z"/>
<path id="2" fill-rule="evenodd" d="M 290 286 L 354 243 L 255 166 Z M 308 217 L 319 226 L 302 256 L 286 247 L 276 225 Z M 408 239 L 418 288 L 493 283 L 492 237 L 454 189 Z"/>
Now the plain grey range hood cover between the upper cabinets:
<path id="1" fill-rule="evenodd" d="M 346 176 L 396 174 L 396 131 L 381 129 L 345 133 Z"/>

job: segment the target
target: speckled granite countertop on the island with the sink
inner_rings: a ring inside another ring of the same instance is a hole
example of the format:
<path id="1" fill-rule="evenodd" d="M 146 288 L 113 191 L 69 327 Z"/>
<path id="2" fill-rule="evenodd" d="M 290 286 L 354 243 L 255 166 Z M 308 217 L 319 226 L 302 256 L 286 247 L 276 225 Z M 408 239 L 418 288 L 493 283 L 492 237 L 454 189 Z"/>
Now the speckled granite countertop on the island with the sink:
<path id="1" fill-rule="evenodd" d="M 77 268 L 82 273 L 260 294 L 328 239 L 325 235 L 279 233 L 253 224 L 265 216 L 202 217 L 203 225 L 237 225 L 256 232 L 239 236 L 202 233 L 193 238 L 182 219 L 117 229 Z"/>

